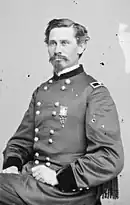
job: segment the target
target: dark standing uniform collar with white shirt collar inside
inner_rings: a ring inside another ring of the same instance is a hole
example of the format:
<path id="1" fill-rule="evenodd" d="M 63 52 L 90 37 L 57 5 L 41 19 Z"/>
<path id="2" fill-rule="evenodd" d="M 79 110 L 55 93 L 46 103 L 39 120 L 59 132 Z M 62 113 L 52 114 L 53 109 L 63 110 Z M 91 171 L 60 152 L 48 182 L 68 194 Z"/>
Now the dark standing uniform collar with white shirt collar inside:
<path id="1" fill-rule="evenodd" d="M 78 66 L 78 68 L 77 68 L 77 66 Z M 54 80 L 62 80 L 62 79 L 70 78 L 70 77 L 73 77 L 75 75 L 82 73 L 83 71 L 84 70 L 83 70 L 82 64 L 75 65 L 75 66 L 72 66 L 71 68 L 65 69 L 65 72 L 60 73 L 59 76 L 56 73 L 54 73 L 53 79 Z"/>

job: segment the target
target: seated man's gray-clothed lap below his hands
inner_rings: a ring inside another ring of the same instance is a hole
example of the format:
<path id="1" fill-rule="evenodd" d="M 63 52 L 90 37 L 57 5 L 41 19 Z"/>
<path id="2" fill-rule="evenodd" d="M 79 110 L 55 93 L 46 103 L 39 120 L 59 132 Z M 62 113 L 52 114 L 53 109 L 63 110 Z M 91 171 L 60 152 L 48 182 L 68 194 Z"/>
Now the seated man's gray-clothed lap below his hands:
<path id="1" fill-rule="evenodd" d="M 61 192 L 58 188 L 35 180 L 29 174 L 0 174 L 0 196 L 7 205 L 94 205 L 96 193 Z M 9 201 L 11 198 L 13 203 Z M 3 202 L 4 203 L 4 202 Z"/>

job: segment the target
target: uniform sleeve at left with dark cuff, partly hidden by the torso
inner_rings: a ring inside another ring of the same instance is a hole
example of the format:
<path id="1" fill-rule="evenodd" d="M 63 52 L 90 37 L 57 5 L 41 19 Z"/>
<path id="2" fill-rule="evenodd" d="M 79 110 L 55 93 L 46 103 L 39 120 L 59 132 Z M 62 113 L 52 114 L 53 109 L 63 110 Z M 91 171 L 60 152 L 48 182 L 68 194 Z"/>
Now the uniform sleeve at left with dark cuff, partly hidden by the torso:
<path id="1" fill-rule="evenodd" d="M 21 124 L 3 151 L 3 169 L 17 166 L 19 171 L 21 171 L 22 166 L 32 157 L 35 126 L 35 94 L 36 91 L 32 95 L 31 102 Z"/>

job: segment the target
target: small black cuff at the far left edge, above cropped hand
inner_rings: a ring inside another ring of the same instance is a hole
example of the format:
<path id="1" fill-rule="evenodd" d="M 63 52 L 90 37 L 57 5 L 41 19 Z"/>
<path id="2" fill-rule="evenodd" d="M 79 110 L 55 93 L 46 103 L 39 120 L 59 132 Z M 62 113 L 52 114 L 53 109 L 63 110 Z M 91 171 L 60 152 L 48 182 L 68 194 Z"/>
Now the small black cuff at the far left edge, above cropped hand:
<path id="1" fill-rule="evenodd" d="M 17 157 L 9 157 L 7 161 L 3 164 L 3 169 L 6 169 L 11 166 L 16 166 L 19 171 L 22 170 L 22 162 Z"/>

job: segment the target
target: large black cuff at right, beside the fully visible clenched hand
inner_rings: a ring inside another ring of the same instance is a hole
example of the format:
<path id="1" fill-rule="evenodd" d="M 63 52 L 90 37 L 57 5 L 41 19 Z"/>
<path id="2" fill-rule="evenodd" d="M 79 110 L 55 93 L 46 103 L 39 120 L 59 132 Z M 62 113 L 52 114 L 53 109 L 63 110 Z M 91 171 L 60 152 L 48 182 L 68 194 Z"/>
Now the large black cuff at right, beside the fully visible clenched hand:
<path id="1" fill-rule="evenodd" d="M 59 182 L 59 188 L 65 192 L 69 192 L 73 189 L 78 188 L 71 165 L 69 165 L 67 168 L 58 171 L 57 180 Z"/>

